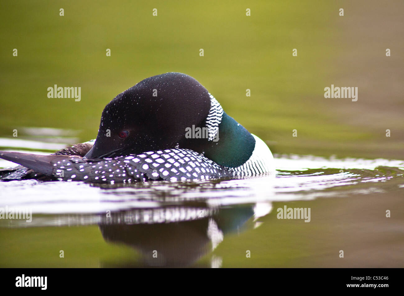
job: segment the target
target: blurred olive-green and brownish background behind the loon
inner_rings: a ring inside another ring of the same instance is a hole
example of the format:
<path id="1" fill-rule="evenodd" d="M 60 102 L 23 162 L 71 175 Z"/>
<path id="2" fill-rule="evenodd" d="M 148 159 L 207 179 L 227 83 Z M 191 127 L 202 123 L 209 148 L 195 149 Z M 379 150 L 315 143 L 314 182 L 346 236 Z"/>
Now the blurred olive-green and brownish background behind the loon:
<path id="1" fill-rule="evenodd" d="M 93 139 L 104 106 L 118 93 L 153 75 L 184 72 L 275 153 L 402 159 L 402 38 L 394 35 L 400 29 L 358 37 L 371 19 L 383 24 L 399 10 L 390 6 L 383 14 L 385 5 L 366 3 L 2 2 L 0 135 L 53 127 Z M 81 101 L 49 99 L 55 84 L 81 87 Z M 359 87 L 358 101 L 325 99 L 331 84 Z"/>

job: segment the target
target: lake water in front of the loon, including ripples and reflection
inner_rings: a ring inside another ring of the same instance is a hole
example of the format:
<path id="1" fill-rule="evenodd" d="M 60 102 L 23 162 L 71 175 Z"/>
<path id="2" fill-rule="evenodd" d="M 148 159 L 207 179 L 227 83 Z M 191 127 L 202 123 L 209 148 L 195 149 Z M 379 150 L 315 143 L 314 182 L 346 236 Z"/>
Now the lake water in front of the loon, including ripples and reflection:
<path id="1" fill-rule="evenodd" d="M 32 211 L 0 219 L 0 266 L 402 267 L 404 161 L 274 157 L 276 175 L 244 179 L 0 182 L 0 208 Z M 290 207 L 309 217 L 278 219 Z"/>

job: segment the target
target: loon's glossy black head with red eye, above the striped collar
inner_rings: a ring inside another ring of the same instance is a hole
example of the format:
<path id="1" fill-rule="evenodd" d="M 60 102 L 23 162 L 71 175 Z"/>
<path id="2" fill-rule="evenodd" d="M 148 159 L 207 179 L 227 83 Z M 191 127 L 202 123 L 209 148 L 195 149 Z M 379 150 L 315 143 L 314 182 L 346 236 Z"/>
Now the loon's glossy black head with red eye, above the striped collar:
<path id="1" fill-rule="evenodd" d="M 88 158 L 175 148 L 185 128 L 201 126 L 210 110 L 208 91 L 194 78 L 166 73 L 144 79 L 105 106 Z"/>

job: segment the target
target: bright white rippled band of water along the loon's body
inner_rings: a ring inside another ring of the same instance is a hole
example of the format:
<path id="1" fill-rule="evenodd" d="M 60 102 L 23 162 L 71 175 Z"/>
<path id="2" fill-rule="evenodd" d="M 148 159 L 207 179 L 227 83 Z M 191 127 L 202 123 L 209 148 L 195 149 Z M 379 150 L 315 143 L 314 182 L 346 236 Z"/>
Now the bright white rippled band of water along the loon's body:
<path id="1" fill-rule="evenodd" d="M 241 204 L 268 207 L 272 201 L 385 192 L 404 186 L 404 161 L 400 160 L 274 156 L 276 176 L 114 185 L 36 180 L 0 182 L 0 207 L 29 208 L 33 213 L 44 214 L 88 214 L 84 220 L 94 223 L 100 219 L 98 214 L 107 210 L 158 209 L 189 203 L 208 208 Z M 8 164 L 0 162 L 0 167 Z"/>

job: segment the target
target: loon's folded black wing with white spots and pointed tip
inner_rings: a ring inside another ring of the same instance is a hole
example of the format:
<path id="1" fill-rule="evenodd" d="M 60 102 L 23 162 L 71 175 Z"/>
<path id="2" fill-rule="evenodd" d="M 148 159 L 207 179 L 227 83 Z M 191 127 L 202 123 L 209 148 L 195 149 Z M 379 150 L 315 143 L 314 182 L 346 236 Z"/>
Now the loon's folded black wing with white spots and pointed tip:
<path id="1" fill-rule="evenodd" d="M 0 152 L 0 158 L 63 181 L 118 183 L 148 179 L 177 181 L 233 176 L 225 167 L 189 149 L 148 151 L 105 159 L 19 152 Z"/>

